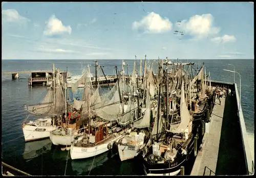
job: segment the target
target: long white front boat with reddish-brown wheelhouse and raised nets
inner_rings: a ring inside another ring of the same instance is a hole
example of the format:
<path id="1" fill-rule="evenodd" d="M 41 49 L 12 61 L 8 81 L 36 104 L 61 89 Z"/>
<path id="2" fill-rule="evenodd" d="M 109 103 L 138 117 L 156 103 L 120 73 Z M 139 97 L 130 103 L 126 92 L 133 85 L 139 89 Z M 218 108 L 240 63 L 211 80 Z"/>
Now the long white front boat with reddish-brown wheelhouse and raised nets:
<path id="1" fill-rule="evenodd" d="M 134 115 L 135 105 L 132 97 L 129 95 L 128 100 L 124 101 L 123 88 L 124 83 L 121 73 L 117 71 L 117 83 L 106 93 L 104 100 L 95 110 L 88 111 L 88 126 L 84 129 L 84 137 L 71 143 L 70 155 L 71 159 L 90 158 L 102 154 L 112 149 L 113 144 L 123 138 L 125 126 L 130 123 Z M 90 93 L 88 93 L 90 94 Z M 90 98 L 88 96 L 88 98 Z M 89 102 L 89 100 L 88 100 Z M 90 112 L 94 113 L 91 117 Z M 117 124 L 117 126 L 113 126 Z M 109 126 L 108 126 L 109 125 Z"/>

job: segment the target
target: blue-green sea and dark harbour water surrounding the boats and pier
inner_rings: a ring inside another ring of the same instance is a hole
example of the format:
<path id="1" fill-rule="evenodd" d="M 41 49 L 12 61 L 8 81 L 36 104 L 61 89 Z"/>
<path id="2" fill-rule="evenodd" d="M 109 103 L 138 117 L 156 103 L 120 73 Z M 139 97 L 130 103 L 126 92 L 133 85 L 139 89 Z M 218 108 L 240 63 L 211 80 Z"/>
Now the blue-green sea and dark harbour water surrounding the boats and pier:
<path id="1" fill-rule="evenodd" d="M 132 72 L 134 60 L 125 61 Z M 187 61 L 183 61 L 187 62 Z M 205 63 L 206 72 L 210 71 L 211 80 L 233 82 L 233 73 L 223 69 L 233 70 L 241 74 L 242 110 L 248 133 L 254 133 L 254 60 L 193 60 L 195 63 Z M 9 70 L 51 70 L 56 68 L 70 71 L 71 75 L 81 74 L 81 68 L 91 65 L 95 72 L 94 60 L 2 60 L 2 71 Z M 106 74 L 115 74 L 115 65 L 120 69 L 121 60 L 98 60 L 104 66 Z M 138 62 L 139 64 L 139 62 Z M 143 65 L 142 65 L 143 66 Z M 196 65 L 194 65 L 196 68 Z M 138 68 L 139 69 L 139 68 Z M 126 72 L 126 67 L 125 67 Z M 101 74 L 101 72 L 100 72 Z M 109 159 L 102 154 L 95 159 L 71 160 L 68 151 L 60 151 L 51 145 L 49 139 L 25 143 L 21 124 L 26 117 L 24 104 L 39 103 L 47 93 L 46 87 L 28 86 L 28 74 L 19 74 L 18 80 L 12 80 L 11 75 L 2 75 L 2 158 L 10 165 L 22 169 L 32 175 L 129 175 L 141 174 L 142 167 L 135 160 L 120 162 L 119 157 Z M 239 87 L 239 75 L 236 74 Z M 74 95 L 80 95 L 78 91 Z M 67 157 L 68 156 L 68 157 Z M 68 158 L 68 161 L 67 161 Z M 93 165 L 92 165 L 93 163 Z"/>

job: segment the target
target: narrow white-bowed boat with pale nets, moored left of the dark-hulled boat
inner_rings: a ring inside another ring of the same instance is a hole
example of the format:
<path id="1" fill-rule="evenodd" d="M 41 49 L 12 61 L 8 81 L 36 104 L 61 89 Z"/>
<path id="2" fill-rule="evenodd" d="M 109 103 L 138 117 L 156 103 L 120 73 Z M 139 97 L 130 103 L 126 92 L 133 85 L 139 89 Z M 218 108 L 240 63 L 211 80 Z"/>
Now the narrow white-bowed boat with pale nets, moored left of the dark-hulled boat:
<path id="1" fill-rule="evenodd" d="M 128 132 L 124 138 L 122 138 L 118 143 L 118 153 L 121 161 L 133 159 L 139 153 L 140 148 L 144 146 L 144 141 L 146 140 L 146 133 L 148 133 L 148 129 L 150 127 L 151 121 L 151 112 L 154 109 L 151 104 L 151 95 L 154 97 L 155 94 L 155 81 L 152 74 L 152 70 L 149 70 L 146 73 L 146 61 L 144 63 L 144 74 L 143 74 L 143 83 L 141 85 L 141 89 L 144 90 L 145 96 L 141 99 L 142 107 L 137 108 L 137 112 L 139 113 L 138 117 L 132 123 L 133 132 Z M 135 67 L 133 71 L 133 75 L 135 76 Z M 133 77 L 132 75 L 132 77 Z M 139 80 L 137 78 L 137 80 Z M 137 86 L 139 87 L 139 86 Z M 140 104 L 138 104 L 140 106 Z M 132 131 L 131 130 L 131 131 Z M 137 131 L 137 132 L 134 132 Z"/>

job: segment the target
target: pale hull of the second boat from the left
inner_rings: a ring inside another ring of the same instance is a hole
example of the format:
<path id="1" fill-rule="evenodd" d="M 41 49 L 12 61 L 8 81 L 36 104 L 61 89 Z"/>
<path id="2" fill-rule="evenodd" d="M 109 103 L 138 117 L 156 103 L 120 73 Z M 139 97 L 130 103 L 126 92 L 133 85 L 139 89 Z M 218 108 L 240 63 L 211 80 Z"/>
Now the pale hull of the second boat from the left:
<path id="1" fill-rule="evenodd" d="M 71 145 L 71 142 L 75 140 L 76 137 L 83 136 L 83 133 L 78 135 L 57 135 L 54 132 L 50 132 L 50 140 L 54 145 Z"/>

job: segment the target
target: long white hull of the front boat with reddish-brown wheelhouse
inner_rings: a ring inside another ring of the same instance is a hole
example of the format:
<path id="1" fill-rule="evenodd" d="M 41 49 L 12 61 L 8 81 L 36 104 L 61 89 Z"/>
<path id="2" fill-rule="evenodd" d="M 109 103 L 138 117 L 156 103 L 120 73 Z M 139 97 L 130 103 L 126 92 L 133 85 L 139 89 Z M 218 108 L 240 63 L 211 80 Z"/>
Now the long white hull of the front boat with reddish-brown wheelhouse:
<path id="1" fill-rule="evenodd" d="M 119 139 L 121 139 L 122 136 L 110 139 L 108 142 L 102 143 L 102 144 L 98 144 L 96 146 L 92 146 L 92 147 L 78 147 L 78 146 L 74 146 L 73 143 L 71 143 L 71 147 L 70 147 L 70 156 L 72 160 L 75 159 L 84 159 L 84 158 L 90 158 L 90 157 L 94 157 L 97 155 L 102 154 L 103 152 L 108 151 L 108 144 L 111 143 L 112 147 L 113 147 L 113 143 L 115 141 L 118 141 Z"/>

